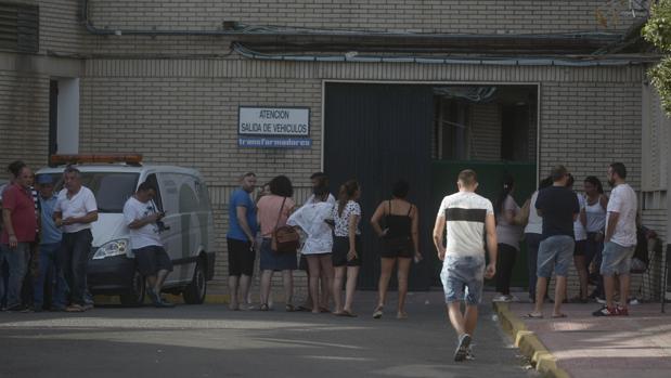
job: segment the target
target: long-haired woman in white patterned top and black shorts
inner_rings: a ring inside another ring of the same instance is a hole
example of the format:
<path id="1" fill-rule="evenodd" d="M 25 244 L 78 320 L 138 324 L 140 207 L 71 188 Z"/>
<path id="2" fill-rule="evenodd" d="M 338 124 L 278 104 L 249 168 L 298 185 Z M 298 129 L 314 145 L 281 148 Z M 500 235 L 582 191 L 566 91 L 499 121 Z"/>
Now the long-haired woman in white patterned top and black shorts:
<path id="1" fill-rule="evenodd" d="M 361 197 L 361 188 L 356 180 L 349 180 L 340 186 L 338 201 L 333 207 L 332 218 L 334 222 L 333 240 L 333 266 L 335 277 L 333 279 L 333 300 L 335 303 L 334 314 L 338 316 L 357 316 L 352 312 L 352 302 L 357 289 L 357 277 L 361 268 L 361 207 L 357 199 Z M 347 276 L 345 285 L 345 304 L 343 304 L 343 281 Z"/>

